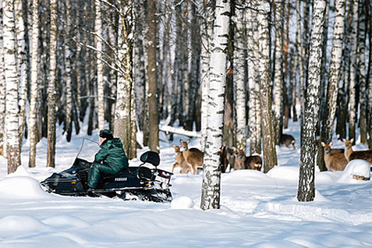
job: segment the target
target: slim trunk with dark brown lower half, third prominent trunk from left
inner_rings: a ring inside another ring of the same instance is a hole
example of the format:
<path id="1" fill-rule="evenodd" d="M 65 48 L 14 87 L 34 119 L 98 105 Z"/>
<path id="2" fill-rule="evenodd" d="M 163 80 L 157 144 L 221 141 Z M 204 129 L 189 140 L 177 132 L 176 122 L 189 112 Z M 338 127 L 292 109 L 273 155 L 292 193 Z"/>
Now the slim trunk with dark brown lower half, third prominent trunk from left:
<path id="1" fill-rule="evenodd" d="M 50 0 L 50 76 L 47 87 L 47 167 L 55 167 L 57 0 Z"/>

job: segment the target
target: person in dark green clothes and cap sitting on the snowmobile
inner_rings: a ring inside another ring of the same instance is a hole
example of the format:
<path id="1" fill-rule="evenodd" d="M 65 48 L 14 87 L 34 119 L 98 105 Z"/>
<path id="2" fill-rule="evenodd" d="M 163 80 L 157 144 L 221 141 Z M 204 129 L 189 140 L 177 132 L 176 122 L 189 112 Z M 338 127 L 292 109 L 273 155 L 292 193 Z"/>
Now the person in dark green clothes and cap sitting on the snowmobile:
<path id="1" fill-rule="evenodd" d="M 110 130 L 104 129 L 99 132 L 99 147 L 100 150 L 94 157 L 88 191 L 97 188 L 101 176 L 117 174 L 128 169 L 128 157 L 123 150 L 123 143 L 119 138 L 114 138 Z"/>

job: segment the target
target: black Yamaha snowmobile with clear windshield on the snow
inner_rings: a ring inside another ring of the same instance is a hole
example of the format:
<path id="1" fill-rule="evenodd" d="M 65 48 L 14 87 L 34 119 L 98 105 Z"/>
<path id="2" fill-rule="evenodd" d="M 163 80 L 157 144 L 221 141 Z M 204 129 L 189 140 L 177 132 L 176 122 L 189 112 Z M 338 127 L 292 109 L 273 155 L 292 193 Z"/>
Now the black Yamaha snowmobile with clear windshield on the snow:
<path id="1" fill-rule="evenodd" d="M 157 168 L 160 164 L 159 154 L 152 151 L 145 152 L 140 156 L 142 162 L 140 166 L 129 167 L 129 169 L 111 176 L 102 176 L 98 187 L 93 191 L 88 191 L 88 180 L 94 165 L 94 159 L 91 159 L 94 158 L 92 150 L 98 151 L 92 143 L 95 143 L 99 149 L 97 142 L 84 139 L 72 167 L 60 173 L 53 173 L 40 183 L 47 192 L 62 196 L 108 196 L 123 200 L 154 202 L 172 200 L 170 182 L 173 174 Z M 86 154 L 90 159 L 86 157 Z"/>

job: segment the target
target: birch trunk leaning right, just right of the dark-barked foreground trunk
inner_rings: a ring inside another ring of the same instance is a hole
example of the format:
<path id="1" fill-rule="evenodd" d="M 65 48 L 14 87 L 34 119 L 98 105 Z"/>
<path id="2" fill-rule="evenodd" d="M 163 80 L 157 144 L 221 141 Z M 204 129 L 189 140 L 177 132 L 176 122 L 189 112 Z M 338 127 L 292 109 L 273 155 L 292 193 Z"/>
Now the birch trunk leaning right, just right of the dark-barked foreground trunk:
<path id="1" fill-rule="evenodd" d="M 324 120 L 322 121 L 321 141 L 329 144 L 332 142 L 334 130 L 334 118 L 336 116 L 337 94 L 339 91 L 339 79 L 342 64 L 342 42 L 344 40 L 344 19 L 345 19 L 345 0 L 335 1 L 335 14 L 333 24 L 333 45 L 331 64 L 329 65 L 329 82 L 327 89 L 327 101 L 325 103 Z M 318 146 L 318 165 L 320 170 L 325 170 L 324 151 L 321 145 Z"/>

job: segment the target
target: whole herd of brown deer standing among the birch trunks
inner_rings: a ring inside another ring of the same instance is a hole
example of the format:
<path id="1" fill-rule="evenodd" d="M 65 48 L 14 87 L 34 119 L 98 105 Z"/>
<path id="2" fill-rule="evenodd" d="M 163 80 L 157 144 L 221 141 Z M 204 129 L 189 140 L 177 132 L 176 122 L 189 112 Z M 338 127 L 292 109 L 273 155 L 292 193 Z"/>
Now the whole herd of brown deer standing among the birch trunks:
<path id="1" fill-rule="evenodd" d="M 353 139 L 343 141 L 345 149 L 332 149 L 332 142 L 329 144 L 321 142 L 325 151 L 325 166 L 328 171 L 343 171 L 347 163 L 353 159 L 366 160 L 372 167 L 372 150 L 354 151 L 352 148 Z M 188 148 L 190 140 L 180 140 L 180 142 L 180 145 L 173 145 L 176 162 L 171 171 L 173 172 L 175 167 L 181 167 L 181 174 L 186 174 L 188 171 L 197 174 L 198 169 L 203 167 L 203 152 L 197 148 Z M 292 146 L 295 149 L 295 139 L 291 135 L 281 135 L 280 142 L 288 148 Z M 222 172 L 225 172 L 228 167 L 230 170 L 254 169 L 261 171 L 262 159 L 259 155 L 246 156 L 245 150 L 225 146 L 222 146 L 221 154 Z"/>

